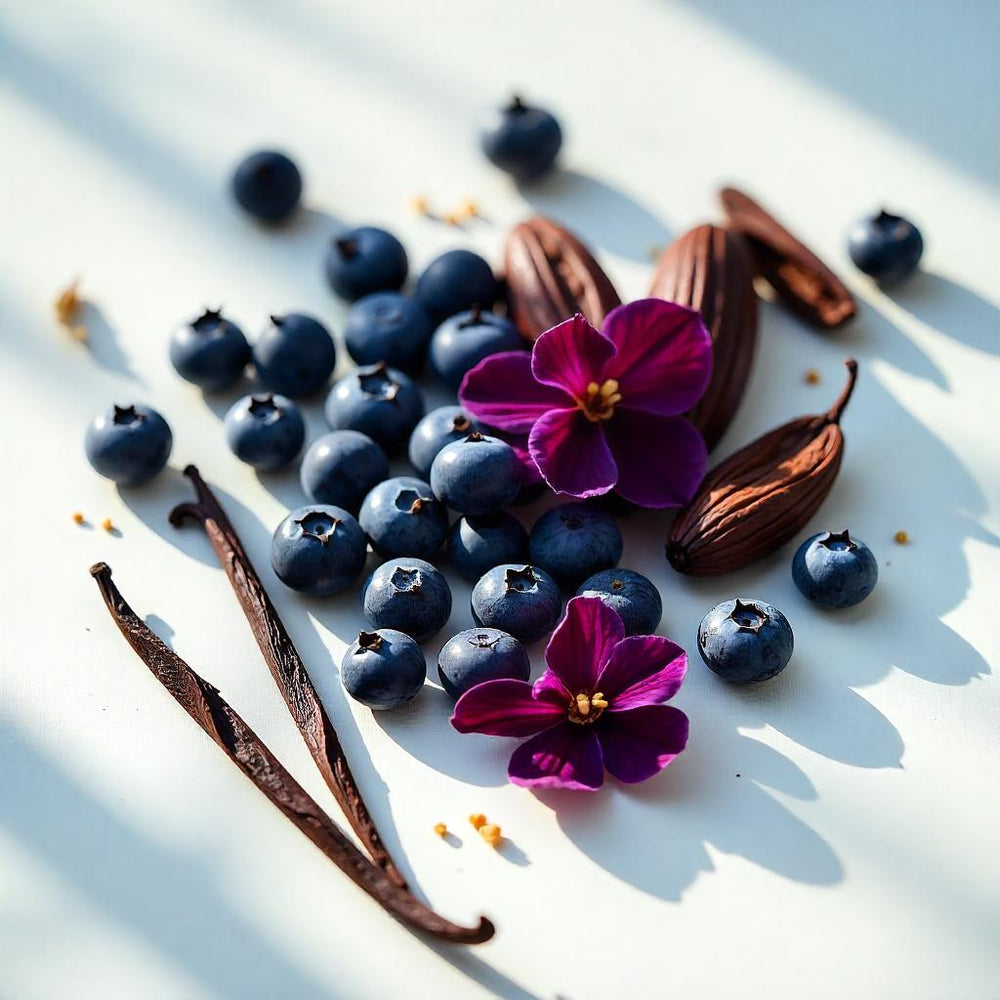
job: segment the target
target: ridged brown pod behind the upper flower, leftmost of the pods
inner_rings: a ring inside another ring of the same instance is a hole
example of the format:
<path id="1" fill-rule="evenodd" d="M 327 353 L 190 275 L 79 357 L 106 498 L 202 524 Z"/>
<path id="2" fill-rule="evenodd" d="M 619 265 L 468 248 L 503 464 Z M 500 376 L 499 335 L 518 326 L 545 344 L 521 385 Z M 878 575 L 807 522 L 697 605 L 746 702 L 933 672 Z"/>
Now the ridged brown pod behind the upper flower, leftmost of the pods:
<path id="1" fill-rule="evenodd" d="M 621 305 L 591 252 L 567 229 L 541 215 L 510 231 L 504 270 L 511 318 L 532 342 L 576 313 L 599 328 Z"/>

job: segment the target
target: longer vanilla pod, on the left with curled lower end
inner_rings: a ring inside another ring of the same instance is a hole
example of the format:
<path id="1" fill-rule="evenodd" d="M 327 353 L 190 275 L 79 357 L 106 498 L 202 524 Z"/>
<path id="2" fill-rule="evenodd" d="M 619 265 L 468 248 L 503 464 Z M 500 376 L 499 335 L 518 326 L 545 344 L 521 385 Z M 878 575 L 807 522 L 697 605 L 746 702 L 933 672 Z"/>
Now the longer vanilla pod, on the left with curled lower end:
<path id="1" fill-rule="evenodd" d="M 197 470 L 189 470 L 189 475 L 191 471 L 197 477 Z M 480 917 L 476 927 L 452 923 L 391 878 L 384 867 L 365 857 L 285 770 L 219 690 L 192 670 L 129 607 L 112 581 L 107 563 L 97 563 L 90 573 L 115 624 L 153 676 L 258 790 L 359 888 L 401 923 L 443 941 L 479 944 L 493 936 L 493 925 L 485 917 Z"/>

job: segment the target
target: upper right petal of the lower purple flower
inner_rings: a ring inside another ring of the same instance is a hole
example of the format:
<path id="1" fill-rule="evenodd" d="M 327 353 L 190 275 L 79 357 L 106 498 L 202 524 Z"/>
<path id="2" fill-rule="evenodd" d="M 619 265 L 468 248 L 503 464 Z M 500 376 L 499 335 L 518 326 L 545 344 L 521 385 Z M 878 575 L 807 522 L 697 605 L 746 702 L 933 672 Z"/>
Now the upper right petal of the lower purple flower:
<path id="1" fill-rule="evenodd" d="M 669 701 L 687 673 L 687 655 L 676 642 L 661 635 L 622 639 L 597 681 L 610 702 L 609 712 Z"/>

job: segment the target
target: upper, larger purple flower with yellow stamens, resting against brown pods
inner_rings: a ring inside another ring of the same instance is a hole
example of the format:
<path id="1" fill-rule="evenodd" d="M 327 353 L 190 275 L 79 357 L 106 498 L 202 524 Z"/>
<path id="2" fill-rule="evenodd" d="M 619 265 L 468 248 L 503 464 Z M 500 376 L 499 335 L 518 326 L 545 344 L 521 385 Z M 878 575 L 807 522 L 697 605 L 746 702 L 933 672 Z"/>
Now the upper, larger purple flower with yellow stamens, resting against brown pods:
<path id="1" fill-rule="evenodd" d="M 681 414 L 701 398 L 712 342 L 699 314 L 661 299 L 612 310 L 601 332 L 583 316 L 546 330 L 530 355 L 494 354 L 459 400 L 501 431 L 556 493 L 615 490 L 675 507 L 705 474 L 705 442 Z"/>

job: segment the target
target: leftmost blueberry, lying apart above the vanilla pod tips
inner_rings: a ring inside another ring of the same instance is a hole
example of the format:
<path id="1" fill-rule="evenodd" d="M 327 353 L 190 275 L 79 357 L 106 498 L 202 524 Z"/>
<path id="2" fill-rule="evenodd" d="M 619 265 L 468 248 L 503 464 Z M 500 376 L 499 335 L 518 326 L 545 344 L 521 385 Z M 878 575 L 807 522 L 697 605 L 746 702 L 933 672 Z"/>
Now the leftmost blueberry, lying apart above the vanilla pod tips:
<path id="1" fill-rule="evenodd" d="M 149 406 L 112 406 L 94 417 L 84 436 L 87 461 L 119 486 L 149 482 L 166 464 L 173 435 Z"/>

